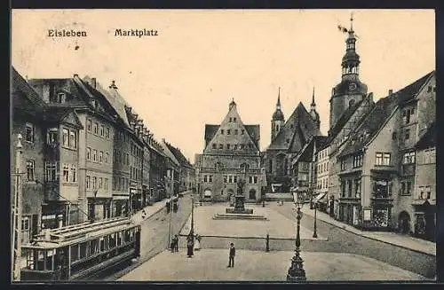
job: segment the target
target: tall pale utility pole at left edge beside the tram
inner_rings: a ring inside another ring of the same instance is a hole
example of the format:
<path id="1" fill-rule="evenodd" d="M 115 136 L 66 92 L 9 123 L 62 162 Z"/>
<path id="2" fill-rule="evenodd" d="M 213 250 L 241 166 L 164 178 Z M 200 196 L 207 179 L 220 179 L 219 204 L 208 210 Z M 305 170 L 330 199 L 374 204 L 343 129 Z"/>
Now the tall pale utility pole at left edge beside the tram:
<path id="1" fill-rule="evenodd" d="M 21 266 L 21 135 L 17 135 L 17 146 L 15 156 L 15 186 L 14 186 L 14 200 L 12 205 L 12 281 L 20 281 L 20 266 Z"/>

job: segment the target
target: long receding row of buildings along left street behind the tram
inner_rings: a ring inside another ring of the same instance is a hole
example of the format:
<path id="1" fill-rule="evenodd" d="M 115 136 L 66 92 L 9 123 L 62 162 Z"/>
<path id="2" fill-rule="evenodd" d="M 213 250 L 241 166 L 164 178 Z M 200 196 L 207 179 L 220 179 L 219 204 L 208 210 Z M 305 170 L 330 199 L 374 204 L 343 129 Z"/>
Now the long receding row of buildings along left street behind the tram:
<path id="1" fill-rule="evenodd" d="M 119 94 L 95 78 L 25 80 L 12 68 L 12 172 L 22 138 L 22 237 L 43 228 L 127 216 L 194 188 L 194 169 L 157 142 Z M 12 192 L 14 192 L 12 179 Z"/>

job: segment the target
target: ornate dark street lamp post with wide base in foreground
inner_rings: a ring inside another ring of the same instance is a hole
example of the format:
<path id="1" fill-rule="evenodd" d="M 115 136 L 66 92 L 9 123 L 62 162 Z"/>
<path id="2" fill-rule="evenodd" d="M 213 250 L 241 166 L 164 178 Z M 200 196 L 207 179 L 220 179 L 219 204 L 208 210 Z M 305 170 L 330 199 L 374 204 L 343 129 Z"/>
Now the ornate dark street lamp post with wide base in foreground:
<path id="1" fill-rule="evenodd" d="M 289 266 L 289 271 L 287 273 L 287 281 L 289 282 L 299 282 L 299 281 L 305 281 L 305 270 L 304 270 L 304 260 L 302 260 L 301 256 L 299 255 L 299 247 L 301 245 L 301 239 L 299 236 L 300 231 L 300 221 L 302 218 L 301 208 L 303 206 L 303 200 L 300 196 L 300 193 L 297 192 L 297 197 L 295 198 L 295 205 L 297 207 L 297 233 L 296 233 L 296 248 L 295 248 L 295 255 L 291 259 L 291 265 Z"/>

